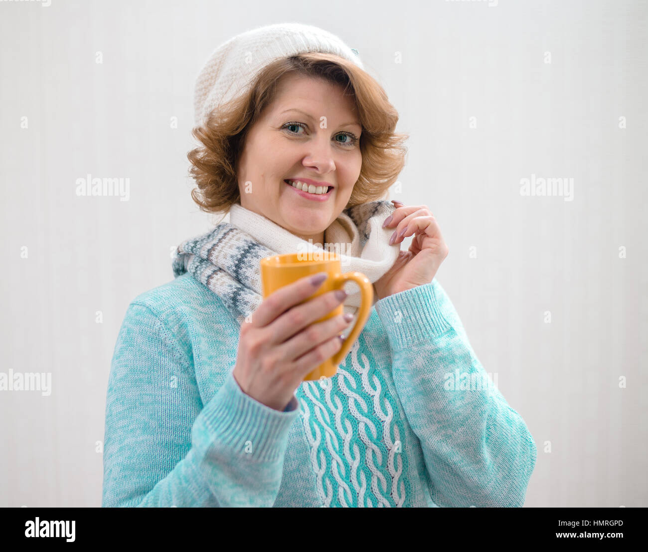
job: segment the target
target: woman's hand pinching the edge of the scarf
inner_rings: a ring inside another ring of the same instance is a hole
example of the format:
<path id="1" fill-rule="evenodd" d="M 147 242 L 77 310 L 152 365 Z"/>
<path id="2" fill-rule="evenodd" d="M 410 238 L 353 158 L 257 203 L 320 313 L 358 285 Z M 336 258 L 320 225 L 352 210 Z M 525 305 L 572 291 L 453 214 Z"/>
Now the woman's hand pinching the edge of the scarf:
<path id="1" fill-rule="evenodd" d="M 410 249 L 401 251 L 391 269 L 374 282 L 378 299 L 432 282 L 448 256 L 448 246 L 427 206 L 406 207 L 397 200 L 392 203 L 396 210 L 383 225 L 383 228 L 396 228 L 391 244 L 400 243 L 410 235 L 414 235 L 414 239 Z"/>

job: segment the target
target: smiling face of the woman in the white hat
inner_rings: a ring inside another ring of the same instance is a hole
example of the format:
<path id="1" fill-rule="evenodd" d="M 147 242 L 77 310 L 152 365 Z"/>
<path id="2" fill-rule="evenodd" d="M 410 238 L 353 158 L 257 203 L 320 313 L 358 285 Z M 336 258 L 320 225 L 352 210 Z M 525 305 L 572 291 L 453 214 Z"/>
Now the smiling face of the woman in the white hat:
<path id="1" fill-rule="evenodd" d="M 349 202 L 360 175 L 361 132 L 353 97 L 344 96 L 340 85 L 302 75 L 283 78 L 275 100 L 249 129 L 238 160 L 241 205 L 324 245 L 324 230 Z M 313 195 L 286 180 L 332 189 Z"/>

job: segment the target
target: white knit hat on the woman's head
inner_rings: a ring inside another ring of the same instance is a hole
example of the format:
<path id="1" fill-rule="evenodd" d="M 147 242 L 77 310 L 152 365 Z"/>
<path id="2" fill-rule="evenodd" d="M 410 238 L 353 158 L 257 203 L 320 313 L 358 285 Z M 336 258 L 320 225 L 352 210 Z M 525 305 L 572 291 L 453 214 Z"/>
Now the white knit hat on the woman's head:
<path id="1" fill-rule="evenodd" d="M 327 52 L 364 69 L 358 51 L 330 32 L 302 23 L 277 23 L 248 30 L 222 43 L 198 73 L 194 90 L 196 126 L 217 106 L 237 97 L 270 62 L 304 52 Z"/>

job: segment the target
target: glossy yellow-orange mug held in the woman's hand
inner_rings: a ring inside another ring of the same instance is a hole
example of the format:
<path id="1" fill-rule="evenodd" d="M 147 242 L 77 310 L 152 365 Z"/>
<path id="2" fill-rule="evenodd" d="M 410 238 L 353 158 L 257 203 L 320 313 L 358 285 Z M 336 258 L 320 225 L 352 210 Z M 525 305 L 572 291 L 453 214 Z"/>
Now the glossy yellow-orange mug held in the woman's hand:
<path id="1" fill-rule="evenodd" d="M 310 274 L 318 274 L 318 272 L 327 272 L 329 277 L 319 286 L 315 293 L 298 304 L 310 301 L 312 298 L 334 289 L 341 289 L 345 282 L 353 281 L 360 286 L 360 309 L 358 309 L 358 317 L 347 339 L 343 341 L 342 348 L 330 357 L 330 359 L 327 359 L 315 368 L 315 370 L 310 372 L 304 379 L 307 381 L 330 378 L 330 376 L 334 376 L 338 371 L 338 365 L 349 353 L 351 346 L 358 339 L 362 328 L 367 323 L 367 319 L 371 314 L 371 307 L 373 306 L 373 284 L 362 272 L 345 272 L 342 274 L 340 257 L 336 254 L 330 254 L 329 258 L 323 260 L 304 260 L 302 258 L 303 254 L 288 253 L 266 257 L 260 260 L 264 299 L 277 291 L 277 289 L 285 285 L 290 285 Z M 339 316 L 343 312 L 343 303 L 340 303 L 338 307 L 334 308 L 324 317 L 315 320 L 313 324 L 323 322 L 327 318 Z"/>

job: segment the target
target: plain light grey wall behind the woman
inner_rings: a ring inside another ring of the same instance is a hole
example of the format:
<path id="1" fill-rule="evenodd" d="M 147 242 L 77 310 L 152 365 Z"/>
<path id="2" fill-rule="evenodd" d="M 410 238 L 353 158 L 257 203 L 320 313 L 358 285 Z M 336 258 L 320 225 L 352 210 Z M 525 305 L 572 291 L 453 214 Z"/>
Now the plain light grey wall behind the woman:
<path id="1" fill-rule="evenodd" d="M 0 392 L 0 506 L 100 505 L 126 306 L 216 222 L 189 196 L 194 78 L 227 38 L 282 21 L 358 49 L 399 110 L 391 197 L 439 220 L 437 278 L 535 438 L 526 505 L 648 505 L 646 3 L 315 6 L 0 2 L 0 371 L 52 378 L 49 396 Z M 76 196 L 86 174 L 129 178 L 130 197 Z M 532 175 L 573 195 L 520 195 Z"/>

